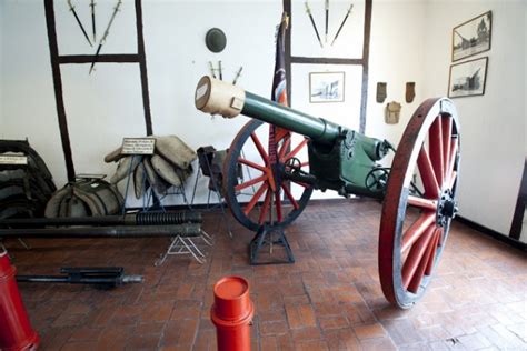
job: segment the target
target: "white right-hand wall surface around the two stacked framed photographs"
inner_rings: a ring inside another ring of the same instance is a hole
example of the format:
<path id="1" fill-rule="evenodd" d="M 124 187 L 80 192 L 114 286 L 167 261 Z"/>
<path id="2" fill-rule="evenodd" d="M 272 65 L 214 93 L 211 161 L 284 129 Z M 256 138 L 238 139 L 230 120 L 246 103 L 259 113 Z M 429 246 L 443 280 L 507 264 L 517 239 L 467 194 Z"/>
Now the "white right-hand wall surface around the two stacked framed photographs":
<path id="1" fill-rule="evenodd" d="M 491 49 L 476 56 L 489 58 L 485 94 L 454 99 L 461 123 L 459 214 L 504 234 L 526 157 L 526 8 L 519 0 L 436 0 L 426 8 L 427 96 L 447 93 L 451 29 L 493 11 Z"/>

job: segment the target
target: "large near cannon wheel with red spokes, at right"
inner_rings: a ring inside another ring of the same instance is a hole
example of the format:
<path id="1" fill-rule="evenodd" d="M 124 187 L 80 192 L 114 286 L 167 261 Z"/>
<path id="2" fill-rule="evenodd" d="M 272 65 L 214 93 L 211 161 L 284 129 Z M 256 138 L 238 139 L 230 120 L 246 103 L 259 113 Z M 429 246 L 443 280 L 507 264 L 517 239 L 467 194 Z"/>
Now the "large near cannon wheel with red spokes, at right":
<path id="1" fill-rule="evenodd" d="M 448 99 L 429 99 L 411 117 L 388 179 L 379 232 L 385 297 L 410 308 L 424 294 L 450 229 L 459 173 L 459 121 Z"/>

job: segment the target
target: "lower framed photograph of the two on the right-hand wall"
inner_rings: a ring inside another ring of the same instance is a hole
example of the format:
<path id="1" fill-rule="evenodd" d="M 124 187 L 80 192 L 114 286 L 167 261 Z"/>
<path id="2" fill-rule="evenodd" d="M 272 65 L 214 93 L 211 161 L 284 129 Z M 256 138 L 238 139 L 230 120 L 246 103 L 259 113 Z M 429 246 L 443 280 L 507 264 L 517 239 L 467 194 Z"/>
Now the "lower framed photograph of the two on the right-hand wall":
<path id="1" fill-rule="evenodd" d="M 448 97 L 483 96 L 487 78 L 488 57 L 450 66 Z"/>

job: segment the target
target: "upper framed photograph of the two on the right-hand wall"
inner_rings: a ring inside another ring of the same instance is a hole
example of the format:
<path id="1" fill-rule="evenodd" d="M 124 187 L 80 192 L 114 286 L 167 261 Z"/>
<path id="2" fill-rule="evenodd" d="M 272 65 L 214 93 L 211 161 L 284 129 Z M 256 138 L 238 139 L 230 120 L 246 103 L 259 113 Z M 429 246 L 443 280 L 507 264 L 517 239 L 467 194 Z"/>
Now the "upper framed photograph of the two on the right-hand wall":
<path id="1" fill-rule="evenodd" d="M 488 11 L 453 29 L 453 61 L 490 50 L 493 12 Z"/>

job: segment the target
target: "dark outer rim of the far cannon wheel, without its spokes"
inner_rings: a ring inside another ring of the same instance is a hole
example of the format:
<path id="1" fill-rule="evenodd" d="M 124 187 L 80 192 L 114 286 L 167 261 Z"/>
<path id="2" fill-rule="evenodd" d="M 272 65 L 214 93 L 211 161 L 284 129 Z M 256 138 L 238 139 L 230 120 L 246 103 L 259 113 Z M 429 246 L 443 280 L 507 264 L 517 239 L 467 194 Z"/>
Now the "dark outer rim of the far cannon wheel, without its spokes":
<path id="1" fill-rule="evenodd" d="M 251 231 L 258 231 L 258 229 L 261 227 L 261 223 L 255 221 L 243 212 L 243 204 L 238 202 L 235 187 L 238 184 L 238 159 L 240 158 L 243 144 L 248 141 L 251 134 L 264 124 L 265 123 L 259 120 L 250 120 L 248 123 L 246 123 L 232 140 L 232 143 L 229 148 L 229 153 L 223 163 L 223 193 L 226 194 L 229 209 L 236 220 Z M 267 126 L 267 123 L 265 126 Z M 297 200 L 298 209 L 292 209 L 289 211 L 286 215 L 284 215 L 281 221 L 276 222 L 272 227 L 285 227 L 291 223 L 304 211 L 309 198 L 311 197 L 311 187 L 305 188 L 300 199 Z"/>

